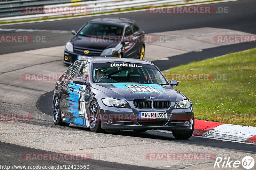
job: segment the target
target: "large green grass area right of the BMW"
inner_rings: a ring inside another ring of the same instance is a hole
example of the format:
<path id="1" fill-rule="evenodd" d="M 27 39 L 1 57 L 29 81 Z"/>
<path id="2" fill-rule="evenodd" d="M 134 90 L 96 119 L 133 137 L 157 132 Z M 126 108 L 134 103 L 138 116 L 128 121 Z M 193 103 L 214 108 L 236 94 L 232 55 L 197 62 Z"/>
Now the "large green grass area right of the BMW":
<path id="1" fill-rule="evenodd" d="M 192 62 L 166 73 L 214 75 L 205 81 L 183 78 L 175 87 L 192 102 L 196 119 L 256 126 L 256 48 Z M 226 78 L 218 80 L 220 75 Z"/>

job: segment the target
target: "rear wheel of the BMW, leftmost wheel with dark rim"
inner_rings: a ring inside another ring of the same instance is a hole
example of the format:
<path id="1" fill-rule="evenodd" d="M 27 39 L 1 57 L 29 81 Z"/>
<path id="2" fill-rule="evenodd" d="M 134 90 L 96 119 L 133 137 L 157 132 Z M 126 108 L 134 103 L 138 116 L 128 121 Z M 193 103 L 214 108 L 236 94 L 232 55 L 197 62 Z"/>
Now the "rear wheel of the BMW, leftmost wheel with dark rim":
<path id="1" fill-rule="evenodd" d="M 56 125 L 68 126 L 69 123 L 62 122 L 61 120 L 61 111 L 60 111 L 60 100 L 58 97 L 54 98 L 52 106 L 52 120 Z"/>

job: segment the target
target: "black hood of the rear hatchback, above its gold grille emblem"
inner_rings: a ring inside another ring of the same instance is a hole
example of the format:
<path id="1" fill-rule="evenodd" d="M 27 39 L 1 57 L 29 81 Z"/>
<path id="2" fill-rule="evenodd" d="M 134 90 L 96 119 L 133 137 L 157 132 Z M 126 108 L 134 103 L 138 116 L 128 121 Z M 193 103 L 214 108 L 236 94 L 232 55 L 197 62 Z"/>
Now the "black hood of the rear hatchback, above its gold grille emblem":
<path id="1" fill-rule="evenodd" d="M 106 48 L 110 48 L 110 47 L 115 47 L 119 42 L 102 42 L 102 39 L 100 39 L 101 41 L 98 41 L 99 39 L 95 40 L 91 39 L 90 37 L 85 37 L 85 36 L 81 36 L 78 35 L 76 37 L 74 37 L 72 39 L 73 41 L 73 46 L 75 48 L 89 48 L 89 49 L 98 49 L 98 50 L 104 50 Z"/>

